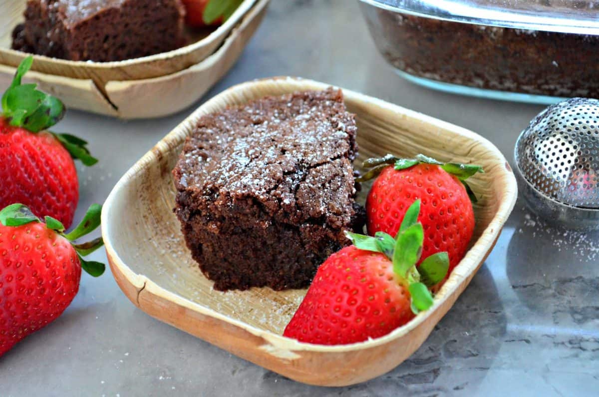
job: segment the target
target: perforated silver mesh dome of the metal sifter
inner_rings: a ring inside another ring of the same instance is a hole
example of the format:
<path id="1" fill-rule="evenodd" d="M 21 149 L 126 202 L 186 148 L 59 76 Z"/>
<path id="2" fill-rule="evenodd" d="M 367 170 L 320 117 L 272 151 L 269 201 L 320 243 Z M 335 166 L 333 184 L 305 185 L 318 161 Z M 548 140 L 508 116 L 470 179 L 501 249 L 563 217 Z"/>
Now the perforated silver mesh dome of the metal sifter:
<path id="1" fill-rule="evenodd" d="M 564 204 L 599 209 L 599 101 L 572 98 L 548 107 L 516 143 L 522 176 Z"/>

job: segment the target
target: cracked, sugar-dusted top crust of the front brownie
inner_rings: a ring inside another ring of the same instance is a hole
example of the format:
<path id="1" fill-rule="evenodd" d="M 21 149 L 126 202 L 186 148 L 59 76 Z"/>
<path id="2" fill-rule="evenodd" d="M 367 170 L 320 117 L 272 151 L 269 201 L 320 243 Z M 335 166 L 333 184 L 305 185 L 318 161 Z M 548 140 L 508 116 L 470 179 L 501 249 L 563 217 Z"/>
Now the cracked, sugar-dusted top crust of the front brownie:
<path id="1" fill-rule="evenodd" d="M 353 216 L 356 126 L 343 94 L 265 97 L 199 119 L 174 170 L 177 190 L 212 213 L 231 214 L 250 198 L 279 221 Z"/>

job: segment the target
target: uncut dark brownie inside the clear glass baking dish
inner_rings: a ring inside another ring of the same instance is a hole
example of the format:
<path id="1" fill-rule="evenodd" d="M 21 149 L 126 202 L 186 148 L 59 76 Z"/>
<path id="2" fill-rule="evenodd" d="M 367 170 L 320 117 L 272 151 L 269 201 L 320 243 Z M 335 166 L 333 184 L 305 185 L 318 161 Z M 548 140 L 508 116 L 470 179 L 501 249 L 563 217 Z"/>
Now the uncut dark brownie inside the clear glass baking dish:
<path id="1" fill-rule="evenodd" d="M 599 97 L 599 35 L 482 26 L 368 7 L 362 4 L 362 11 L 380 52 L 412 76 L 524 94 Z"/>

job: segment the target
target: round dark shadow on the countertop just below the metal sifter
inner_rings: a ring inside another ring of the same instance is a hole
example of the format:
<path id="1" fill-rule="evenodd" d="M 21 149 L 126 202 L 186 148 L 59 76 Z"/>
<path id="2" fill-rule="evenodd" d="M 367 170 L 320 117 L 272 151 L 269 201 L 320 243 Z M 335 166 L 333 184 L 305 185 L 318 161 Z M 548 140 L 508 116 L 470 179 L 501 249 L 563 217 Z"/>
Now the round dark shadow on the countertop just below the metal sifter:
<path id="1" fill-rule="evenodd" d="M 525 214 L 506 261 L 516 296 L 544 323 L 573 331 L 599 329 L 599 231 L 566 230 Z"/>

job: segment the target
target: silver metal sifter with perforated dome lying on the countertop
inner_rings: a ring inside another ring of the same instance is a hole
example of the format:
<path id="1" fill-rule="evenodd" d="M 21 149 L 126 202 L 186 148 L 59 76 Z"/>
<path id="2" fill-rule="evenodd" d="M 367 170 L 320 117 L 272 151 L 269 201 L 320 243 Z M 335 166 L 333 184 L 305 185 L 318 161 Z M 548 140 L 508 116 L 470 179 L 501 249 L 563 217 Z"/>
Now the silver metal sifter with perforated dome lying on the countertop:
<path id="1" fill-rule="evenodd" d="M 599 228 L 599 100 L 547 107 L 522 131 L 514 155 L 531 210 L 566 227 Z"/>

